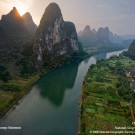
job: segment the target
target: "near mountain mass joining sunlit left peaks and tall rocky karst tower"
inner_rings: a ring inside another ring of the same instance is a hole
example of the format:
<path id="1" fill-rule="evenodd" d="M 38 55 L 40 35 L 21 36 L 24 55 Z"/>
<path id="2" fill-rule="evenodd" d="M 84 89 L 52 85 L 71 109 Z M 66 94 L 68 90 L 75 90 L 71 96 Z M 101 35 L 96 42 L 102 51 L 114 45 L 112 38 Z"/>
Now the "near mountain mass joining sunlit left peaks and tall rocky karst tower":
<path id="1" fill-rule="evenodd" d="M 58 67 L 80 52 L 75 25 L 64 21 L 56 3 L 46 8 L 38 27 L 30 13 L 20 16 L 15 7 L 0 20 L 0 66 L 13 78 Z"/>

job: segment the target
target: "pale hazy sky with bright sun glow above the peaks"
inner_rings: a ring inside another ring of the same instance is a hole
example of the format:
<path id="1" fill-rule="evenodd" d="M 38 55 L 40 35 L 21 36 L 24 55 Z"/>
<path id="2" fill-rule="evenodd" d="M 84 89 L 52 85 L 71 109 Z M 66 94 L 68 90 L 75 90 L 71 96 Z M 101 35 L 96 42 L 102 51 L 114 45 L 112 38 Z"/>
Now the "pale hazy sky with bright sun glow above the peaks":
<path id="1" fill-rule="evenodd" d="M 96 30 L 109 27 L 116 34 L 135 34 L 135 0 L 0 0 L 0 17 L 15 6 L 22 15 L 30 12 L 39 25 L 45 8 L 56 2 L 65 21 L 72 21 L 77 31 L 86 25 Z"/>

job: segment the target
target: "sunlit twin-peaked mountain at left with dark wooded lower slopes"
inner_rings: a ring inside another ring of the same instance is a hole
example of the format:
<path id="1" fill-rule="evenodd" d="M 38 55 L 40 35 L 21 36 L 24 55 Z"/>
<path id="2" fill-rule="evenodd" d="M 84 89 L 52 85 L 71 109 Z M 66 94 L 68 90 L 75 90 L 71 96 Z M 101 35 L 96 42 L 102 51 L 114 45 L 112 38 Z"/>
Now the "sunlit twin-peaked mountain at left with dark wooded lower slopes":
<path id="1" fill-rule="evenodd" d="M 29 27 L 30 24 L 31 27 Z M 7 15 L 1 17 L 0 65 L 9 71 L 13 78 L 33 71 L 30 70 L 34 65 L 31 62 L 31 40 L 36 29 L 37 26 L 30 13 L 20 16 L 15 7 Z"/>

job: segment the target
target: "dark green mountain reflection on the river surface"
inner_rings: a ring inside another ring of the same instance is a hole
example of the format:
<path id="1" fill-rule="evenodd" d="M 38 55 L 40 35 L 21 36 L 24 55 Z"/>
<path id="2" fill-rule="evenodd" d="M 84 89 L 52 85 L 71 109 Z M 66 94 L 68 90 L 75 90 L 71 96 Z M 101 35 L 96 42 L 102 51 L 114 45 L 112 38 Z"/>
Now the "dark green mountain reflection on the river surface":
<path id="1" fill-rule="evenodd" d="M 72 90 L 76 79 L 78 64 L 70 64 L 48 73 L 38 81 L 36 87 L 43 98 L 60 106 L 66 89 Z"/>

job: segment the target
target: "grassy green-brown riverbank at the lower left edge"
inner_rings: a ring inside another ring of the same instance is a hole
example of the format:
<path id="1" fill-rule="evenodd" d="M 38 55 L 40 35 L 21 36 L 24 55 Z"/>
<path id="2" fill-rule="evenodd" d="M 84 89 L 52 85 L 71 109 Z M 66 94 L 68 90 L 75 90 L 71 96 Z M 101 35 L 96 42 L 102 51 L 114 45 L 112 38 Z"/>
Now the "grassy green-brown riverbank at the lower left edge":
<path id="1" fill-rule="evenodd" d="M 39 78 L 39 74 L 36 74 L 25 80 L 11 80 L 0 85 L 0 118 L 29 91 Z"/>

